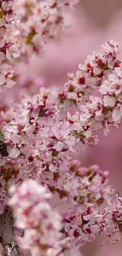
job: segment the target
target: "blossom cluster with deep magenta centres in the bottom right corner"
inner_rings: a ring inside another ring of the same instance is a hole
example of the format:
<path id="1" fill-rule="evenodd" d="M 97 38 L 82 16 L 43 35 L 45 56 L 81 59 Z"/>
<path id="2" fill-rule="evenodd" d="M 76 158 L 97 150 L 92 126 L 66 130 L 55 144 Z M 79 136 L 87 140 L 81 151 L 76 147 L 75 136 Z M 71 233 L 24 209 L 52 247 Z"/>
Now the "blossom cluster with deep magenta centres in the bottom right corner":
<path id="1" fill-rule="evenodd" d="M 105 210 L 98 210 L 94 204 L 88 203 L 86 209 L 79 207 L 70 210 L 64 218 L 66 236 L 73 236 L 72 246 L 83 245 L 87 241 L 94 242 L 95 236 L 102 232 L 114 244 L 121 239 L 122 198 L 116 197 L 108 201 Z"/>

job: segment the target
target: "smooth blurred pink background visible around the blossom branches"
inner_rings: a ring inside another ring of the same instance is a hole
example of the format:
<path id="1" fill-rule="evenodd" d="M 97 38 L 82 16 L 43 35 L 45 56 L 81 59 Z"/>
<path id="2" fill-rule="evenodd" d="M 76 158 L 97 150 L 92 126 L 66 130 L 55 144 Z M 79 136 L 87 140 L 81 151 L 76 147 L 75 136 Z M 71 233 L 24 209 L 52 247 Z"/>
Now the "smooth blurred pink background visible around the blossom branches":
<path id="1" fill-rule="evenodd" d="M 67 23 L 72 27 L 64 30 L 59 39 L 45 47 L 43 57 L 31 58 L 29 65 L 19 67 L 26 76 L 36 77 L 39 85 L 63 86 L 67 73 L 75 72 L 87 54 L 98 51 L 101 44 L 113 39 L 122 51 L 122 0 L 81 0 L 75 10 L 67 12 Z M 40 83 L 40 80 L 42 81 Z M 100 140 L 95 147 L 83 147 L 79 155 L 83 165 L 98 164 L 103 170 L 109 170 L 110 183 L 122 195 L 122 125 L 113 129 L 105 137 L 99 132 Z M 122 240 L 116 245 L 109 242 L 100 246 L 87 243 L 82 248 L 85 256 L 122 256 Z"/>

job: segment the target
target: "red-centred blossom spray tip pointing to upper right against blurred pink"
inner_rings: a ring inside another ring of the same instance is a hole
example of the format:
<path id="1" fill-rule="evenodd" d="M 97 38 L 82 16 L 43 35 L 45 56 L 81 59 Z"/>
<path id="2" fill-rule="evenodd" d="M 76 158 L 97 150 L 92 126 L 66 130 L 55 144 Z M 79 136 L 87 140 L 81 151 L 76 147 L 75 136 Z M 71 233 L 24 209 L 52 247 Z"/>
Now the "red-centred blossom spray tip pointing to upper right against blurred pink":
<path id="1" fill-rule="evenodd" d="M 84 64 L 79 64 L 76 74 L 68 74 L 68 82 L 59 94 L 61 102 L 69 100 L 81 104 L 84 98 L 99 90 L 99 87 L 108 79 L 111 73 L 119 75 L 121 61 L 119 47 L 113 40 L 102 45 L 102 52 L 88 55 Z"/>

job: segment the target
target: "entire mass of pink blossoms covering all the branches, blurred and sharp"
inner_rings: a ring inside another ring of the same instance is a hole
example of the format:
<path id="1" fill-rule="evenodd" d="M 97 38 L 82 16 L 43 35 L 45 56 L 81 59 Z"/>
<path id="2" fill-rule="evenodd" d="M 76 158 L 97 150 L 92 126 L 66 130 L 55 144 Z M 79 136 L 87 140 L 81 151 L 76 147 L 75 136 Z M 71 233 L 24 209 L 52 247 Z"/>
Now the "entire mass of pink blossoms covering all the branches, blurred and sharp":
<path id="1" fill-rule="evenodd" d="M 18 49 L 21 60 L 42 54 L 62 28 L 62 6 L 76 2 L 20 2 L 23 18 L 17 25 L 18 2 L 0 1 L 1 89 L 13 85 L 8 63 Z M 0 242 L 7 256 L 19 254 L 13 225 L 24 234 L 17 237 L 19 246 L 33 256 L 79 255 L 80 245 L 102 232 L 112 243 L 121 237 L 122 198 L 113 200 L 109 173 L 98 165 L 83 168 L 74 159 L 77 146 L 98 143 L 94 131 L 103 128 L 107 135 L 121 121 L 119 48 L 112 40 L 103 47 L 69 75 L 61 91 L 41 88 L 0 112 Z M 104 210 L 102 202 L 108 204 Z"/>

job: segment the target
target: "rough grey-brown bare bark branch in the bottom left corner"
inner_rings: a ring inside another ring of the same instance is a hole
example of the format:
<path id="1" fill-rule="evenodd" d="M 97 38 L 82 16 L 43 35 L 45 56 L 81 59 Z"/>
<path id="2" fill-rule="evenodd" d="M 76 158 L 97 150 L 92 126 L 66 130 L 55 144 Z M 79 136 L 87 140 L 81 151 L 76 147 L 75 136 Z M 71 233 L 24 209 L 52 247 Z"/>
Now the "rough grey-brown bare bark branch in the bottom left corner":
<path id="1" fill-rule="evenodd" d="M 0 243 L 5 250 L 6 256 L 19 256 L 19 247 L 14 236 L 12 213 L 5 209 L 0 215 L 1 238 Z"/>

